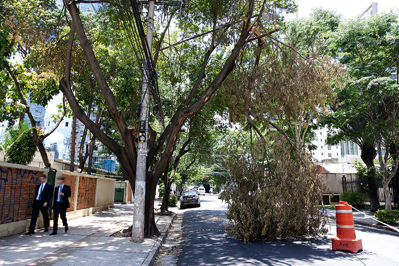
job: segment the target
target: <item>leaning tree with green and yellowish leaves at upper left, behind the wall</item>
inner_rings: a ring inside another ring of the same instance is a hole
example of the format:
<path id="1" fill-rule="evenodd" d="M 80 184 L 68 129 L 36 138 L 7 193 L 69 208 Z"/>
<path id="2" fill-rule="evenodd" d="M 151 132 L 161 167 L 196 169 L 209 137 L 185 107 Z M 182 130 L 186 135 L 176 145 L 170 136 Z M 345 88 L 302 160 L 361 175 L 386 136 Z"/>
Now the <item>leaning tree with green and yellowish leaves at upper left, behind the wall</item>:
<path id="1" fill-rule="evenodd" d="M 30 12 L 30 6 L 35 6 L 35 12 Z M 58 92 L 58 85 L 53 73 L 34 73 L 30 71 L 28 55 L 43 43 L 52 41 L 57 21 L 54 20 L 56 8 L 54 1 L 30 0 L 27 2 L 5 1 L 0 5 L 0 33 L 1 53 L 0 72 L 4 81 L 3 89 L 7 89 L 6 96 L 19 104 L 6 104 L 8 113 L 20 113 L 20 120 L 23 112 L 27 114 L 32 125 L 32 136 L 46 167 L 51 167 L 45 151 L 43 140 L 49 136 L 61 123 L 65 109 L 58 119 L 55 127 L 46 134 L 39 136 L 36 121 L 30 112 L 26 96 L 29 101 L 39 105 L 45 105 L 53 95 Z M 24 64 L 11 64 L 10 57 L 18 52 L 24 59 Z M 2 108 L 3 109 L 3 108 Z M 19 110 L 18 110 L 19 109 Z M 4 114 L 4 113 L 3 113 Z M 9 116 L 8 116 L 9 118 Z M 7 119 L 12 123 L 11 119 Z"/>

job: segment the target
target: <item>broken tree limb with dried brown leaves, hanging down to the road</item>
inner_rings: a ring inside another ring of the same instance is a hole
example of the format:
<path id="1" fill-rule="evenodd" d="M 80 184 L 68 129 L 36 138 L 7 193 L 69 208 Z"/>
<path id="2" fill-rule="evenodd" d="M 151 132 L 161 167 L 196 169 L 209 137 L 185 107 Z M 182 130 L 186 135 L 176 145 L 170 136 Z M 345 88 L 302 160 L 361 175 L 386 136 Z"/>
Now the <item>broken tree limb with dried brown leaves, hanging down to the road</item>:
<path id="1" fill-rule="evenodd" d="M 310 26 L 300 23 L 284 31 L 284 43 L 269 34 L 258 38 L 256 49 L 242 51 L 250 63 L 238 64 L 224 86 L 231 121 L 250 134 L 249 143 L 242 137 L 230 143 L 226 160 L 228 231 L 244 241 L 326 232 L 316 211 L 323 185 L 307 143 L 310 126 L 335 97 L 333 88 L 342 86 L 343 68 L 323 55 L 320 22 L 303 43 L 297 36 Z"/>

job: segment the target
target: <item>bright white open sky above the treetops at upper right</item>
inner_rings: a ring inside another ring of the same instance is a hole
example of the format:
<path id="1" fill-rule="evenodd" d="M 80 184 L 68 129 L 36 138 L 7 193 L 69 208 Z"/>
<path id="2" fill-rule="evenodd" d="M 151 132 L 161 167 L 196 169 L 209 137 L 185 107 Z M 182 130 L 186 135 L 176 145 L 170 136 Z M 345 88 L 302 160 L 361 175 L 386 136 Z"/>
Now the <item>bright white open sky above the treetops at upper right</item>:
<path id="1" fill-rule="evenodd" d="M 298 4 L 298 17 L 308 16 L 315 7 L 337 10 L 344 18 L 361 14 L 372 2 L 378 2 L 378 12 L 388 12 L 392 7 L 399 8 L 399 0 L 295 0 L 295 2 Z M 286 18 L 293 19 L 295 15 L 291 14 Z"/>

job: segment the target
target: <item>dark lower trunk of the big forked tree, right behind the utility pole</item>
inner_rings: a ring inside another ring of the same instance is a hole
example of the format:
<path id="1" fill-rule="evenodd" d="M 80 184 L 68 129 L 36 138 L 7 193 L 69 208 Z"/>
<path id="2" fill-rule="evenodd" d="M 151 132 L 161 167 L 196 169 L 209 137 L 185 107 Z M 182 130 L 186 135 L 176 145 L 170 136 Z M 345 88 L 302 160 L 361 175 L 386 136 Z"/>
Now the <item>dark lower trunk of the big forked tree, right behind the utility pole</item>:
<path id="1" fill-rule="evenodd" d="M 161 232 L 157 228 L 154 216 L 154 200 L 159 178 L 154 178 L 152 173 L 147 172 L 146 177 L 146 203 L 144 210 L 144 237 L 159 237 Z"/>

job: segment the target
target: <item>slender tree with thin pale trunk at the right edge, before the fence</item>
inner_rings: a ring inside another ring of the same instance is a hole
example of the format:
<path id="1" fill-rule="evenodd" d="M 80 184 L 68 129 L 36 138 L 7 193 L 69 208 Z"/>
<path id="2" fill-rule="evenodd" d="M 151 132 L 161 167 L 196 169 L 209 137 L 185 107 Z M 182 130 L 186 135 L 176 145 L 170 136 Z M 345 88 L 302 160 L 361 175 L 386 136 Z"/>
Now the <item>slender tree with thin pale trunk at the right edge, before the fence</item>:
<path id="1" fill-rule="evenodd" d="M 383 173 L 385 208 L 392 210 L 389 183 L 399 164 L 399 85 L 388 77 L 364 77 L 351 81 L 347 90 L 352 98 L 361 99 L 360 105 L 352 108 L 360 110 L 368 121 L 367 129 L 372 132 Z"/>

